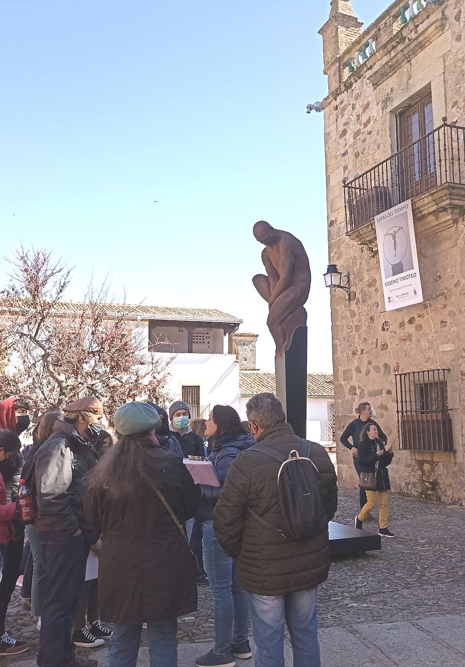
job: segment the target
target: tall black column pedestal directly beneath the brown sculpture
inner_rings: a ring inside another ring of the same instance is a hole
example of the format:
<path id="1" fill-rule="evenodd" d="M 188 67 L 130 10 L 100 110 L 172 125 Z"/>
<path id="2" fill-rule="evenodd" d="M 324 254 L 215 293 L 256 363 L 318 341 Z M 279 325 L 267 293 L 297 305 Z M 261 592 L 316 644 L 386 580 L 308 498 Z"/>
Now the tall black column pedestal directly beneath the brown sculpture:
<path id="1" fill-rule="evenodd" d="M 307 437 L 307 327 L 294 333 L 283 359 L 276 359 L 276 396 L 296 436 Z"/>

